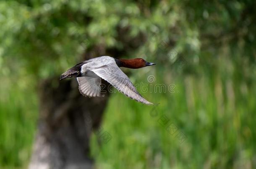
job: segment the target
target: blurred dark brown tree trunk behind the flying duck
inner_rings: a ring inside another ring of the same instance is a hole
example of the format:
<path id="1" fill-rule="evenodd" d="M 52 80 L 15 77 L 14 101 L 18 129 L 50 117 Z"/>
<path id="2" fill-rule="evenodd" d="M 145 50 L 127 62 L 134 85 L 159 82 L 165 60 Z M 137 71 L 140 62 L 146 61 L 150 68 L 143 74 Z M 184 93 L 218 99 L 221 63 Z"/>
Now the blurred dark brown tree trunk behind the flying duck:
<path id="1" fill-rule="evenodd" d="M 84 59 L 105 52 L 104 48 L 96 51 L 86 53 Z M 92 168 L 89 139 L 92 129 L 100 125 L 108 93 L 86 98 L 79 93 L 75 78 L 59 81 L 59 77 L 54 77 L 39 85 L 39 96 L 39 128 L 29 168 Z"/>

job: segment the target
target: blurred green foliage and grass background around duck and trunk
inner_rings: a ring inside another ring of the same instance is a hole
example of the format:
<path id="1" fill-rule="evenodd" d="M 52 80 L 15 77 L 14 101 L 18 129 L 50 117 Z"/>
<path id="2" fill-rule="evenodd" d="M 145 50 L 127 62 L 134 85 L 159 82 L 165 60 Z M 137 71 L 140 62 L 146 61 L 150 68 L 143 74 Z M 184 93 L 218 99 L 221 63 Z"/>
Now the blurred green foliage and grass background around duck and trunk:
<path id="1" fill-rule="evenodd" d="M 0 168 L 28 167 L 39 84 L 95 46 L 157 63 L 123 69 L 133 83 L 172 85 L 137 87 L 157 106 L 110 95 L 101 126 L 111 139 L 99 144 L 93 132 L 89 141 L 96 168 L 256 168 L 255 7 L 255 0 L 1 0 Z"/>

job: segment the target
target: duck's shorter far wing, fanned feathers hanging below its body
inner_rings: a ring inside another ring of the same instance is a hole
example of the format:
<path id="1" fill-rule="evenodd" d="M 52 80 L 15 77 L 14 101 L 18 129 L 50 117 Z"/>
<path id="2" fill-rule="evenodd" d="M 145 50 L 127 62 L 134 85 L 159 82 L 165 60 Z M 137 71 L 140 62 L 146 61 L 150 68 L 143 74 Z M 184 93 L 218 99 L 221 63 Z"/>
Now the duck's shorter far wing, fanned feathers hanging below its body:
<path id="1" fill-rule="evenodd" d="M 79 91 L 83 96 L 95 97 L 100 96 L 101 78 L 78 77 L 76 78 L 79 85 Z"/>

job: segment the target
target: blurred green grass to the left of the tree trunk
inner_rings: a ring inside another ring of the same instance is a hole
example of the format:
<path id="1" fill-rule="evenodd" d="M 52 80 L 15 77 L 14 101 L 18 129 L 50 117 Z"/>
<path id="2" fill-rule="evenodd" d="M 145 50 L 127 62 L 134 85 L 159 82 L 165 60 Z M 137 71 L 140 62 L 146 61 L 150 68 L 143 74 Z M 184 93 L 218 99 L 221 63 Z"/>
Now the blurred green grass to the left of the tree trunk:
<path id="1" fill-rule="evenodd" d="M 1 80 L 0 168 L 26 168 L 37 128 L 37 96 L 32 85 L 22 86 L 22 80 Z"/>

